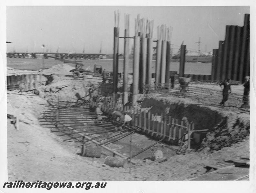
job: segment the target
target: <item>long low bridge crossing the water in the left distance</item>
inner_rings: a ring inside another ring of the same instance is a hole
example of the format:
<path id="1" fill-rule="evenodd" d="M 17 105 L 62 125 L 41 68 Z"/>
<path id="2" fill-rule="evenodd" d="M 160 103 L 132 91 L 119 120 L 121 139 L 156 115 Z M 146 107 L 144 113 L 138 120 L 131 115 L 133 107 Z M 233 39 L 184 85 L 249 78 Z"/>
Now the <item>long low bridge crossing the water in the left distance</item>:
<path id="1" fill-rule="evenodd" d="M 37 58 L 39 54 L 42 54 L 45 59 L 48 58 L 48 55 L 55 56 L 60 59 L 99 59 L 106 54 L 76 54 L 76 53 L 53 53 L 53 52 L 7 52 L 6 57 L 8 58 Z"/>

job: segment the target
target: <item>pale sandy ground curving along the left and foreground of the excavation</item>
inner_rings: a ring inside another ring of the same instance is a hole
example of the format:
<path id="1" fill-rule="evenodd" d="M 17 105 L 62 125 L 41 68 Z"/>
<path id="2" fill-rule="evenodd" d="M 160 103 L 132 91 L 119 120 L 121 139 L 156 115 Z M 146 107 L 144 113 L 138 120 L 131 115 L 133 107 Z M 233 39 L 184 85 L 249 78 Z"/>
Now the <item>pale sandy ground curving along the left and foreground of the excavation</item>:
<path id="1" fill-rule="evenodd" d="M 9 92 L 9 91 L 8 91 Z M 12 91 L 16 92 L 16 91 Z M 11 93 L 11 91 L 10 91 Z M 138 162 L 128 169 L 110 168 L 102 159 L 81 157 L 72 143 L 50 133 L 38 124 L 46 102 L 39 96 L 8 94 L 10 105 L 20 114 L 20 130 L 8 119 L 8 180 L 85 181 L 85 180 L 184 180 L 205 172 L 206 165 L 249 157 L 249 136 L 243 141 L 212 153 L 165 154 L 162 163 Z M 12 111 L 10 105 L 7 113 Z M 164 151 L 163 151 L 164 152 Z"/>

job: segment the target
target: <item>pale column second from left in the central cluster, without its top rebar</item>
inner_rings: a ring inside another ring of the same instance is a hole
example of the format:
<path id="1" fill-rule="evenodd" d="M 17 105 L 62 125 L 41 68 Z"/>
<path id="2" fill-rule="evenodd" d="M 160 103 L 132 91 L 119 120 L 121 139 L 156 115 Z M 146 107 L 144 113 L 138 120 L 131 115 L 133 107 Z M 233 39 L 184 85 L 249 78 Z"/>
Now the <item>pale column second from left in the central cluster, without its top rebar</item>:
<path id="1" fill-rule="evenodd" d="M 129 30 L 124 30 L 124 37 L 129 37 Z M 128 102 L 128 72 L 129 72 L 129 38 L 124 38 L 123 59 L 123 104 Z"/>

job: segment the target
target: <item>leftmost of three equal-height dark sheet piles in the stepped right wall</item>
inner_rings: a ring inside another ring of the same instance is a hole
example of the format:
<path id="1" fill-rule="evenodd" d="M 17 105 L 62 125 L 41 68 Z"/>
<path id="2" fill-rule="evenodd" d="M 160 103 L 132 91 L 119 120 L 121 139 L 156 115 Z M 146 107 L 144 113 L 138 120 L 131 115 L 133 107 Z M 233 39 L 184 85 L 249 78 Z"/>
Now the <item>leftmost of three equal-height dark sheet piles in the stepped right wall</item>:
<path id="1" fill-rule="evenodd" d="M 226 36 L 225 36 L 225 43 L 224 43 L 224 52 L 223 52 L 223 61 L 222 61 L 222 77 L 221 79 L 226 79 L 226 72 L 227 72 L 227 59 L 228 59 L 228 51 L 229 51 L 229 34 L 230 34 L 230 25 L 226 25 Z"/>

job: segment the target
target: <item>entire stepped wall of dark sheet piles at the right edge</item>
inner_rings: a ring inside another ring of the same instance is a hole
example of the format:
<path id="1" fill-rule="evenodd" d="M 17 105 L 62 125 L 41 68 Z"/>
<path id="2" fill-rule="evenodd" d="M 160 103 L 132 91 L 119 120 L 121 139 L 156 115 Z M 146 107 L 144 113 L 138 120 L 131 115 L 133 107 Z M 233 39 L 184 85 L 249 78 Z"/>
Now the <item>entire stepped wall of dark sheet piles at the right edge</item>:
<path id="1" fill-rule="evenodd" d="M 213 50 L 212 81 L 232 79 L 243 81 L 250 75 L 250 14 L 245 14 L 244 26 L 227 25 L 225 41 Z"/>

